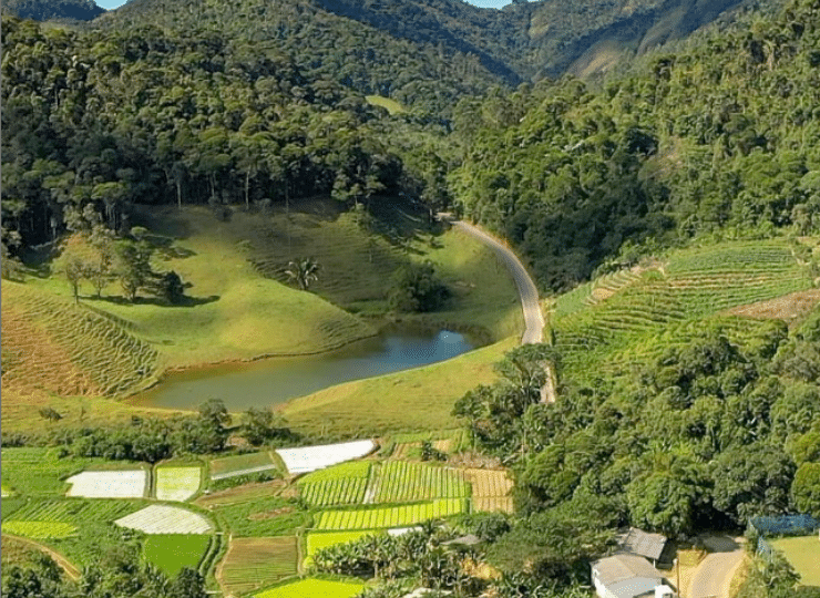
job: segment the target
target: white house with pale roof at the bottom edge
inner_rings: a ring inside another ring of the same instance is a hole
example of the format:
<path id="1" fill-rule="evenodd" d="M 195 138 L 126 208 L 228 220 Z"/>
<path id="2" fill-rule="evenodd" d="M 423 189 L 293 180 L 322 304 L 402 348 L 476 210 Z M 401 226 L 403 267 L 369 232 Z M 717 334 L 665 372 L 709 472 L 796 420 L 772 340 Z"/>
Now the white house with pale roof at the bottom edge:
<path id="1" fill-rule="evenodd" d="M 664 576 L 644 557 L 617 554 L 592 564 L 592 582 L 601 598 L 674 598 Z"/>

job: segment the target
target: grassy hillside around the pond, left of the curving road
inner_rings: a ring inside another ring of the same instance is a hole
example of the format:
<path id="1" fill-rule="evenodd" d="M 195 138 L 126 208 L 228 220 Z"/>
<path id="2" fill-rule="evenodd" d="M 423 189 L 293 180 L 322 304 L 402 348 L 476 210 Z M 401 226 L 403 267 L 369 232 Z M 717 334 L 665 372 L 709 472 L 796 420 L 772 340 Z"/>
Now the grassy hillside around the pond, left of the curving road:
<path id="1" fill-rule="evenodd" d="M 41 429 L 43 420 L 32 405 L 63 415 L 52 426 L 129 416 L 126 405 L 99 398 L 134 393 L 166 368 L 317 353 L 373 334 L 385 320 L 392 272 L 410 260 L 432 260 L 453 297 L 440 312 L 404 319 L 454 327 L 486 340 L 517 336 L 522 326 L 514 286 L 494 255 L 455 230 L 431 235 L 412 212 L 377 214 L 372 234 L 362 231 L 338 204 L 318 199 L 291 206 L 289 214 L 237 212 L 229 221 L 194 207 L 144 209 L 135 221 L 151 231 L 146 238 L 155 247 L 153 268 L 173 269 L 188 285 L 186 303 L 170 307 L 146 297 L 131 303 L 119 282 L 96 299 L 84 282 L 74 305 L 62 271 L 70 256 L 90 251 L 79 237 L 42 267 L 41 277 L 3 281 L 7 430 Z M 314 256 L 320 264 L 311 292 L 293 288 L 284 275 L 288 260 L 300 256 Z M 372 421 L 385 419 L 391 430 L 438 429 L 449 421 L 447 405 L 475 380 L 491 377 L 500 355 L 493 349 L 435 365 L 429 379 L 426 370 L 414 370 L 407 385 L 398 375 L 326 392 L 373 409 L 368 403 L 373 395 L 392 395 L 401 384 L 401 401 L 440 400 L 433 415 L 394 410 L 381 401 L 383 417 Z M 300 429 L 320 431 L 315 417 L 326 416 L 328 402 L 325 398 L 320 410 L 301 413 Z M 352 433 L 356 425 L 345 423 L 339 433 Z"/>

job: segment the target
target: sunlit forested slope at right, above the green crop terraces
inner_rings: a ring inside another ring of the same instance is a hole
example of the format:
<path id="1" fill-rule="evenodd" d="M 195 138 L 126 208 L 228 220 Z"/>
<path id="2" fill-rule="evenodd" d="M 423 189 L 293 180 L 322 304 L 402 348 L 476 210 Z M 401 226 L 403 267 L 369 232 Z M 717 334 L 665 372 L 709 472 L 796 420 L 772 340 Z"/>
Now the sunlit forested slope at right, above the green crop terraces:
<path id="1" fill-rule="evenodd" d="M 790 2 L 597 93 L 564 80 L 463 101 L 451 190 L 556 289 L 636 243 L 817 231 L 818 10 Z"/>

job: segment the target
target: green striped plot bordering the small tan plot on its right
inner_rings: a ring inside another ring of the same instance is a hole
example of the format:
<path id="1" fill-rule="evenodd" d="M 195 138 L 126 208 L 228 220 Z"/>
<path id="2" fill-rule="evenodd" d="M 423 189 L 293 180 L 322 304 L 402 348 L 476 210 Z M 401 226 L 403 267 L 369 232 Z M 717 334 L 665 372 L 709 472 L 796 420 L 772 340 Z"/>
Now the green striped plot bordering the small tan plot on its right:
<path id="1" fill-rule="evenodd" d="M 375 503 L 409 503 L 470 496 L 470 485 L 461 472 L 406 461 L 388 461 L 382 464 L 375 488 Z"/>

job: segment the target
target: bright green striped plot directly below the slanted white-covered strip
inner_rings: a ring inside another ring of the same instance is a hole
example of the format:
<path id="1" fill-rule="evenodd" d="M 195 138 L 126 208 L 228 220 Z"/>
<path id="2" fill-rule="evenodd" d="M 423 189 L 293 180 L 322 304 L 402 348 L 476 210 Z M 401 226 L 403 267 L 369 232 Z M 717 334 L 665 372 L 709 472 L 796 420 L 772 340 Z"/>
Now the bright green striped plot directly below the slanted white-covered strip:
<path id="1" fill-rule="evenodd" d="M 353 461 L 308 474 L 298 483 L 311 506 L 350 505 L 365 499 L 370 463 Z"/>

